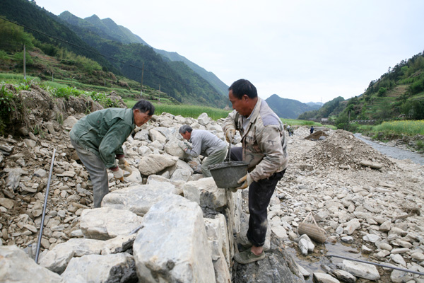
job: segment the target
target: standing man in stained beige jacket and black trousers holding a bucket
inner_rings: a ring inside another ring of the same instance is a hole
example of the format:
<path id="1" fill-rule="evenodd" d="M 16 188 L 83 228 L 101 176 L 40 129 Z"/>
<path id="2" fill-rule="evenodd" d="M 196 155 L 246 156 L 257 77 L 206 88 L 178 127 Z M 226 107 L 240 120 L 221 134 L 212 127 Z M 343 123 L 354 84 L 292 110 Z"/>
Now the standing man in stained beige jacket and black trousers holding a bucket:
<path id="1" fill-rule="evenodd" d="M 225 137 L 231 142 L 236 130 L 242 136 L 242 147 L 231 149 L 230 157 L 249 163 L 249 173 L 238 180 L 240 187 L 236 189 L 249 187 L 247 238 L 252 248 L 234 256 L 235 261 L 247 264 L 265 258 L 262 246 L 268 227 L 266 209 L 288 166 L 287 142 L 280 118 L 258 97 L 250 81 L 235 81 L 228 91 L 235 110 L 225 118 Z"/>

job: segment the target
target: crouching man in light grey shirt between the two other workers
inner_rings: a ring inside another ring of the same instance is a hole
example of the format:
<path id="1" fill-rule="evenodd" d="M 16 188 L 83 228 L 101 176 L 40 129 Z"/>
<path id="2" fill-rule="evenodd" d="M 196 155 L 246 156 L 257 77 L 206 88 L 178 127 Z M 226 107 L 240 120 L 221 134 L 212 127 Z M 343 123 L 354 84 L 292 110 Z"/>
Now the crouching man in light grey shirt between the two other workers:
<path id="1" fill-rule="evenodd" d="M 192 142 L 192 149 L 181 143 L 180 147 L 189 156 L 197 157 L 199 155 L 207 156 L 201 163 L 201 173 L 205 178 L 212 177 L 208 167 L 221 163 L 227 155 L 227 144 L 215 134 L 205 129 L 192 129 L 189 125 L 183 125 L 178 130 L 184 139 Z"/>

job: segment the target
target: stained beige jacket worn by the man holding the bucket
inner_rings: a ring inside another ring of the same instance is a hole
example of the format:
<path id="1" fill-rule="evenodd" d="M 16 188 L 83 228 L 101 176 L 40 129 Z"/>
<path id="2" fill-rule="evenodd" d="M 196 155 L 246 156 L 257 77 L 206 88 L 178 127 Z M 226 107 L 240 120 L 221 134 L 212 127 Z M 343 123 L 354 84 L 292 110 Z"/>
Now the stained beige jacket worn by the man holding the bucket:
<path id="1" fill-rule="evenodd" d="M 247 118 L 234 110 L 225 118 L 223 129 L 224 132 L 228 129 L 240 132 L 243 161 L 249 163 L 252 180 L 269 178 L 273 173 L 287 168 L 288 154 L 283 123 L 265 100 L 258 98 L 246 129 L 243 128 L 245 119 Z"/>

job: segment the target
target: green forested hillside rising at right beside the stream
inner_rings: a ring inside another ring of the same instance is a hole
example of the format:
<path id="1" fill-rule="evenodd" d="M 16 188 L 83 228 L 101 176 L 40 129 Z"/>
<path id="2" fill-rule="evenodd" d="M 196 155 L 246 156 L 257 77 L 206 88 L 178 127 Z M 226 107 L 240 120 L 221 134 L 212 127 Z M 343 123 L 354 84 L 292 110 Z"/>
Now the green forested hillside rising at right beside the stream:
<path id="1" fill-rule="evenodd" d="M 372 80 L 364 93 L 343 100 L 335 98 L 319 111 L 305 112 L 298 119 L 332 117 L 336 125 L 348 125 L 355 120 L 377 124 L 386 120 L 424 119 L 423 52 L 389 68 L 379 79 Z"/>

